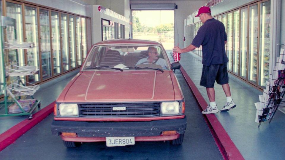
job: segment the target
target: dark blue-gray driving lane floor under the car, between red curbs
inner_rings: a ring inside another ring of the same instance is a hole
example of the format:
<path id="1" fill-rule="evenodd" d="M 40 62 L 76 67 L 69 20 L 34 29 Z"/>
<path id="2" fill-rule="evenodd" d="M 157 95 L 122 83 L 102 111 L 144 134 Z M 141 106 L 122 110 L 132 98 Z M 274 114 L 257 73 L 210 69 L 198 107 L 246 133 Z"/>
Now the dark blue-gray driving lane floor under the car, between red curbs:
<path id="1" fill-rule="evenodd" d="M 50 115 L 1 151 L 1 160 L 223 159 L 181 72 L 176 71 L 176 74 L 185 96 L 187 116 L 184 142 L 180 146 L 170 145 L 169 142 L 136 142 L 135 145 L 106 147 L 104 142 L 100 142 L 65 148 L 60 137 L 51 135 L 53 115 Z"/>

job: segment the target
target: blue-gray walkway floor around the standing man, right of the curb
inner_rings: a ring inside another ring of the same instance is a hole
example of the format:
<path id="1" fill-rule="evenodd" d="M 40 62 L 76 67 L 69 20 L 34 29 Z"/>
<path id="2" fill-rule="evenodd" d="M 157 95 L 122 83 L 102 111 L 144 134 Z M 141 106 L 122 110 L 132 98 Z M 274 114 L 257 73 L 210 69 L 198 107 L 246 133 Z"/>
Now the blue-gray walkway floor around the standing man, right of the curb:
<path id="1" fill-rule="evenodd" d="M 202 57 L 194 53 L 181 54 L 181 65 L 195 83 L 204 99 L 209 102 L 206 88 L 200 86 Z M 229 74 L 229 85 L 237 107 L 228 112 L 216 113 L 216 117 L 227 131 L 245 159 L 285 159 L 285 114 L 277 111 L 270 124 L 263 122 L 258 128 L 255 120 L 255 102 L 262 95 L 257 89 Z M 226 96 L 219 84 L 215 84 L 216 103 L 221 109 Z"/>

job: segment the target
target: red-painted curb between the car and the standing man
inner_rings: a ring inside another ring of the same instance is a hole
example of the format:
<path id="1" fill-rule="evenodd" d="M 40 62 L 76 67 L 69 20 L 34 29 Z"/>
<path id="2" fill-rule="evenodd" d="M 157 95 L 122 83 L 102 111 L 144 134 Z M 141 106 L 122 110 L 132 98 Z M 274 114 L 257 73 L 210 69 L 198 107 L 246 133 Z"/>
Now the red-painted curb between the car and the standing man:
<path id="1" fill-rule="evenodd" d="M 203 111 L 208 105 L 207 102 L 182 66 L 180 68 L 180 71 L 188 86 L 192 90 L 192 93 L 200 107 L 200 110 Z M 215 114 L 203 114 L 203 117 L 224 159 L 244 159 Z"/>

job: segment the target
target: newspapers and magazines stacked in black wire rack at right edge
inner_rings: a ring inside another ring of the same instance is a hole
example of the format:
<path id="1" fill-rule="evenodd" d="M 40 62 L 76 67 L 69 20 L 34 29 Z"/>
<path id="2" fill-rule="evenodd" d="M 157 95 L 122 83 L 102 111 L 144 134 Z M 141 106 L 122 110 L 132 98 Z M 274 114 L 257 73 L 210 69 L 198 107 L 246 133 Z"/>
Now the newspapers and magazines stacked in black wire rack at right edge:
<path id="1" fill-rule="evenodd" d="M 277 58 L 276 66 L 269 80 L 266 81 L 266 88 L 263 95 L 259 95 L 259 102 L 254 103 L 256 107 L 255 122 L 261 123 L 273 118 L 278 107 L 281 106 L 285 92 L 285 54 L 281 49 L 280 57 Z"/>

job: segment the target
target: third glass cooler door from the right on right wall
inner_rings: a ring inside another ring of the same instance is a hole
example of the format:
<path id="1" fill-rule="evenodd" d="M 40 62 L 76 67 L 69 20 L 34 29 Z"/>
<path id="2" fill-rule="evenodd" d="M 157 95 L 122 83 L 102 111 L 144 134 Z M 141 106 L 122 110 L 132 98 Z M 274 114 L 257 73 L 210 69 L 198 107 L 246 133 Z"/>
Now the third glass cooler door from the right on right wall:
<path id="1" fill-rule="evenodd" d="M 247 33 L 248 33 L 248 9 L 240 10 L 240 76 L 246 79 L 247 75 Z"/>

